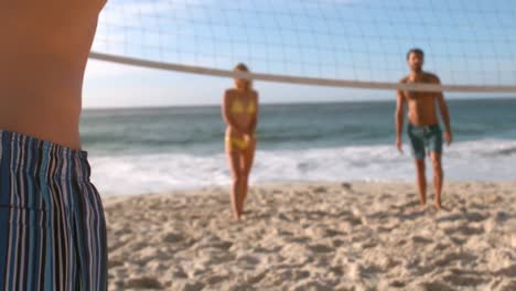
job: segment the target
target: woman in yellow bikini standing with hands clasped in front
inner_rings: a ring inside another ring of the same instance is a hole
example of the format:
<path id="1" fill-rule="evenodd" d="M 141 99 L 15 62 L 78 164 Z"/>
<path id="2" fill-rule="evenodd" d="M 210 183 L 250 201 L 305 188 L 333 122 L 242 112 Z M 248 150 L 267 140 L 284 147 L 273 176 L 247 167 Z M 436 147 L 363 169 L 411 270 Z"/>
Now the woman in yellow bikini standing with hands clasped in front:
<path id="1" fill-rule="evenodd" d="M 235 72 L 247 73 L 244 64 Z M 256 149 L 256 125 L 258 120 L 258 93 L 252 89 L 251 80 L 235 79 L 235 88 L 224 94 L 223 117 L 226 128 L 226 155 L 233 176 L 232 208 L 235 219 L 244 213 L 248 177 Z"/>

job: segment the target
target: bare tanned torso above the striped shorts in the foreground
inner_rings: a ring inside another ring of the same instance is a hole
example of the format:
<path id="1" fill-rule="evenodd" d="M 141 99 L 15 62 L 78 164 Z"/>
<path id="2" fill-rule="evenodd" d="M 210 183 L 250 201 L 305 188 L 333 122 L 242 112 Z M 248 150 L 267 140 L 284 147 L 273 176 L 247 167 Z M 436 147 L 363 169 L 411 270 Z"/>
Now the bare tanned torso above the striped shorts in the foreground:
<path id="1" fill-rule="evenodd" d="M 84 71 L 105 0 L 0 0 L 0 130 L 80 148 Z"/>

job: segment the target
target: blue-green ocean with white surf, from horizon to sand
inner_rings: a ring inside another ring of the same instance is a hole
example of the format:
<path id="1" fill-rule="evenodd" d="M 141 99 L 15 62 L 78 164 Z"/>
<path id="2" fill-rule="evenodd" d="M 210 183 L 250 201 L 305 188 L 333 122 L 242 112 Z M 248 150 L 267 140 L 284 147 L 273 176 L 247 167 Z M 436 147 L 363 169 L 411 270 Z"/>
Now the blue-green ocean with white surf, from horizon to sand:
<path id="1" fill-rule="evenodd" d="M 454 143 L 444 148 L 451 181 L 516 179 L 516 99 L 450 100 Z M 251 183 L 412 181 L 395 148 L 395 101 L 264 105 Z M 219 107 L 85 110 L 82 139 L 103 194 L 226 185 Z M 428 175 L 431 175 L 429 168 Z"/>

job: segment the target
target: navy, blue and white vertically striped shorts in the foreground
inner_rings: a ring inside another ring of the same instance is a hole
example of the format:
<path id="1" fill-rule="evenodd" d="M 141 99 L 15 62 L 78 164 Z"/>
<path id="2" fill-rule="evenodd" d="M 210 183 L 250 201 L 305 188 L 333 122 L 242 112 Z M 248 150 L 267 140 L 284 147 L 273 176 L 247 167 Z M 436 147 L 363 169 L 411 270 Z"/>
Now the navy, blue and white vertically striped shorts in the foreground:
<path id="1" fill-rule="evenodd" d="M 0 131 L 0 291 L 107 290 L 87 153 Z"/>

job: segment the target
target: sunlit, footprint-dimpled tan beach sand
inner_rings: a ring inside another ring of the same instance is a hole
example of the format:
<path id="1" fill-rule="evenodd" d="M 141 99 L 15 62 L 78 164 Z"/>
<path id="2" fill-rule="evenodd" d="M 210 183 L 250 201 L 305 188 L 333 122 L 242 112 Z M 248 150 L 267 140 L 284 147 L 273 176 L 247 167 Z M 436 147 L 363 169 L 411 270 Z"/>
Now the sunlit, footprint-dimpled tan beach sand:
<path id="1" fill-rule="evenodd" d="M 281 183 L 105 197 L 109 290 L 516 290 L 516 182 Z"/>

